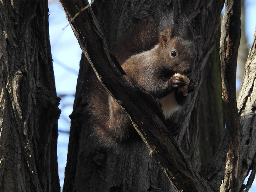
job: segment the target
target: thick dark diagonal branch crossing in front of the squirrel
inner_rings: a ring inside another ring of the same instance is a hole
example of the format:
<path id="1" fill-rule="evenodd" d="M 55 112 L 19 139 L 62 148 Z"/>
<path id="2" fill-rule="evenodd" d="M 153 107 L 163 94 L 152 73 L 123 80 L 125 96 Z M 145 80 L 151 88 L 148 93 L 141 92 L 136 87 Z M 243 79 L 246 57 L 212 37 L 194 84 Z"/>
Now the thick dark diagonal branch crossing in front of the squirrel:
<path id="1" fill-rule="evenodd" d="M 82 0 L 60 0 L 68 20 L 85 7 Z M 76 38 L 99 81 L 128 113 L 133 126 L 150 149 L 176 190 L 214 191 L 191 165 L 175 139 L 170 136 L 159 105 L 138 86 L 131 87 L 111 60 L 100 27 L 91 8 L 71 22 Z M 137 100 L 136 104 L 129 102 Z M 155 112 L 155 113 L 154 113 Z"/>

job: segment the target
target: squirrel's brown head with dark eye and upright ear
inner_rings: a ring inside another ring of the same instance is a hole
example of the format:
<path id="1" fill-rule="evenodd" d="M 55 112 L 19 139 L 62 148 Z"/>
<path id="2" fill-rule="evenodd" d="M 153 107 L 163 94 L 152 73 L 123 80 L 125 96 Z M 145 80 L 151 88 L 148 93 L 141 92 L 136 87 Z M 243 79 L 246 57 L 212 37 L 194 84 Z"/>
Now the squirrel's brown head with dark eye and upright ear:
<path id="1" fill-rule="evenodd" d="M 158 46 L 161 65 L 170 72 L 189 75 L 194 70 L 196 51 L 193 38 L 175 36 L 170 28 L 165 28 L 159 36 Z"/>

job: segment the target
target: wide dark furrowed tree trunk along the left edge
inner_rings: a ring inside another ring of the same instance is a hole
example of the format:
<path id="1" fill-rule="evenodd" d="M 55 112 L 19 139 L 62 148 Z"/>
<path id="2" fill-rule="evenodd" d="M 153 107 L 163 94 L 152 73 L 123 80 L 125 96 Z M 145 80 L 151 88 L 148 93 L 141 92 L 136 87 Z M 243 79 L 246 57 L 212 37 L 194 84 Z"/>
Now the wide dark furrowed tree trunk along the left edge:
<path id="1" fill-rule="evenodd" d="M 0 191 L 60 191 L 47 1 L 2 1 L 0 18 Z"/>

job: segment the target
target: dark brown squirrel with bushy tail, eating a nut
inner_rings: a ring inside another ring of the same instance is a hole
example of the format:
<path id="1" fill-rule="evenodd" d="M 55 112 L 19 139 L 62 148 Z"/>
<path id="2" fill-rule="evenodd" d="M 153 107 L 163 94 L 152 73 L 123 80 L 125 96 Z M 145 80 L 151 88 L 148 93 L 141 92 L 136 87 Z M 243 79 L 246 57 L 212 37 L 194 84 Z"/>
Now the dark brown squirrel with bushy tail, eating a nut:
<path id="1" fill-rule="evenodd" d="M 175 76 L 176 73 L 189 76 L 194 70 L 196 50 L 193 39 L 193 31 L 185 17 L 168 15 L 161 22 L 136 25 L 113 50 L 126 73 L 125 78 L 159 99 L 166 119 L 188 100 L 179 88 L 187 86 L 188 93 L 196 89 L 193 81 L 188 84 Z M 105 146 L 118 146 L 140 138 L 127 114 L 103 87 L 93 92 L 89 99 L 93 129 Z"/>

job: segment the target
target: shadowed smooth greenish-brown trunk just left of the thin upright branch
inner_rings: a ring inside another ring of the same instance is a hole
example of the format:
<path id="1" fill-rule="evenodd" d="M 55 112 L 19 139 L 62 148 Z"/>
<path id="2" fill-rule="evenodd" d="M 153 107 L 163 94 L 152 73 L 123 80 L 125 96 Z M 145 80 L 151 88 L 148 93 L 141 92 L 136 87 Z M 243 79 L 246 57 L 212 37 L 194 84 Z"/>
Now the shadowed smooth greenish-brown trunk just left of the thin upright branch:
<path id="1" fill-rule="evenodd" d="M 205 81 L 203 81 L 199 91 L 199 98 L 201 98 L 199 148 L 202 164 L 209 162 L 217 152 L 225 127 L 221 102 L 220 31 L 219 28 L 214 38 L 215 47 L 209 56 L 208 68 L 206 68 L 203 77 Z"/>

